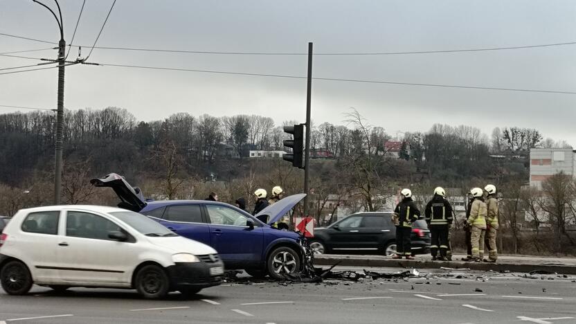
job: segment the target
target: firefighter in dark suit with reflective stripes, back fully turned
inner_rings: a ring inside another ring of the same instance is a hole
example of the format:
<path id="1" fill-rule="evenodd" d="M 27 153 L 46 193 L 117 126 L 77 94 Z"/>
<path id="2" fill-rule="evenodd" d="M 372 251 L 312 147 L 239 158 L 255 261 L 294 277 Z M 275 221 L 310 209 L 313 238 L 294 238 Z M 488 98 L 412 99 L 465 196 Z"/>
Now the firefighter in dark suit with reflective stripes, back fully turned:
<path id="1" fill-rule="evenodd" d="M 452 206 L 446 199 L 446 192 L 443 188 L 434 189 L 434 197 L 426 205 L 424 215 L 432 233 L 430 246 L 432 260 L 448 261 L 448 232 L 452 224 Z M 438 250 L 440 250 L 440 257 L 437 258 Z"/>

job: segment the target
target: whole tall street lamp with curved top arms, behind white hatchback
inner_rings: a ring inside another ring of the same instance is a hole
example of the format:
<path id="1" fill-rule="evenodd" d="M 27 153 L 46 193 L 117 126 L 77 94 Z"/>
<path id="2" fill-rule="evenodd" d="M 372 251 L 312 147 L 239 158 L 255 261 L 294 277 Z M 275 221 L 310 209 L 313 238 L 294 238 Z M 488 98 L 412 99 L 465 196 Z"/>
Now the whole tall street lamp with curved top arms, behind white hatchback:
<path id="1" fill-rule="evenodd" d="M 62 147 L 64 142 L 64 60 L 66 52 L 66 41 L 64 41 L 64 22 L 62 21 L 62 10 L 57 0 L 54 0 L 58 8 L 58 15 L 44 3 L 32 0 L 40 6 L 52 12 L 56 19 L 58 29 L 60 29 L 60 42 L 58 42 L 58 102 L 56 114 L 56 156 L 55 156 L 55 174 L 54 174 L 54 204 L 60 205 L 60 194 L 62 186 Z M 60 17 L 60 19 L 58 19 Z"/>

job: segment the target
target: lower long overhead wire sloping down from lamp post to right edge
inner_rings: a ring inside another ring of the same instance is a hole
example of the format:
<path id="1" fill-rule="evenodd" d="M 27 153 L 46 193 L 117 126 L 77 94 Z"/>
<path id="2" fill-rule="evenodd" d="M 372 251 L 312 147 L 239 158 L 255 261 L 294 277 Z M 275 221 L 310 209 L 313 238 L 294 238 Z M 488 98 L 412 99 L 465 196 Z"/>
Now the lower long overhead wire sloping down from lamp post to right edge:
<path id="1" fill-rule="evenodd" d="M 300 76 L 300 75 L 280 75 L 280 74 L 267 74 L 267 73 L 242 73 L 242 72 L 231 72 L 231 71 L 210 71 L 210 70 L 169 68 L 169 67 L 161 67 L 161 66 L 141 66 L 141 65 L 107 64 L 107 63 L 100 63 L 99 65 L 117 66 L 117 67 L 133 68 L 133 69 L 151 69 L 151 70 L 163 70 L 163 71 L 183 71 L 183 72 L 215 73 L 215 74 L 229 74 L 229 75 L 249 75 L 249 76 L 261 76 L 261 77 L 268 77 L 268 78 L 290 78 L 290 79 L 306 79 L 307 78 L 305 76 Z M 343 79 L 343 78 L 312 78 L 312 79 L 323 80 L 323 81 L 339 81 L 339 82 L 395 84 L 395 85 L 405 85 L 405 86 L 415 86 L 415 87 L 441 87 L 441 88 L 480 89 L 480 90 L 494 90 L 494 91 L 521 91 L 521 92 L 538 92 L 538 93 L 576 94 L 576 92 L 574 92 L 574 91 L 514 89 L 514 88 L 501 88 L 501 87 L 476 87 L 476 86 L 465 86 L 465 85 L 454 85 L 454 84 L 393 82 L 393 81 L 357 80 L 357 79 Z"/>

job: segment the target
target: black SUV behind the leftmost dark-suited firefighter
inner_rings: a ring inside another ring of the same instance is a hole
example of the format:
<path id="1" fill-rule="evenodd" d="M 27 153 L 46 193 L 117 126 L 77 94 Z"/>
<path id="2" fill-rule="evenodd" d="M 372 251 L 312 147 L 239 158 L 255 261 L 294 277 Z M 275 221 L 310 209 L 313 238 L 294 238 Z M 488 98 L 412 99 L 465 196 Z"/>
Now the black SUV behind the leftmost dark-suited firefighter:
<path id="1" fill-rule="evenodd" d="M 396 253 L 396 227 L 392 213 L 357 213 L 326 228 L 314 228 L 310 248 L 316 254 L 384 254 Z M 430 231 L 419 219 L 412 228 L 413 254 L 430 253 Z"/>

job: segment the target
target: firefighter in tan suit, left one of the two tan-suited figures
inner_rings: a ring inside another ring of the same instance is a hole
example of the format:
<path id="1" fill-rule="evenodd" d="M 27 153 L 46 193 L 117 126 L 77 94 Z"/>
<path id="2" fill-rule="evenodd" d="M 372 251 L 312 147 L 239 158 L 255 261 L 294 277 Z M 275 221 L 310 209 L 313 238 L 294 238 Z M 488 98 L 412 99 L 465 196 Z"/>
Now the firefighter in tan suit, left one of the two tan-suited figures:
<path id="1" fill-rule="evenodd" d="M 472 242 L 472 259 L 474 262 L 482 262 L 484 258 L 484 237 L 486 233 L 487 208 L 484 202 L 484 192 L 480 188 L 470 190 L 474 201 L 470 208 L 470 216 L 467 224 L 470 227 Z"/>

